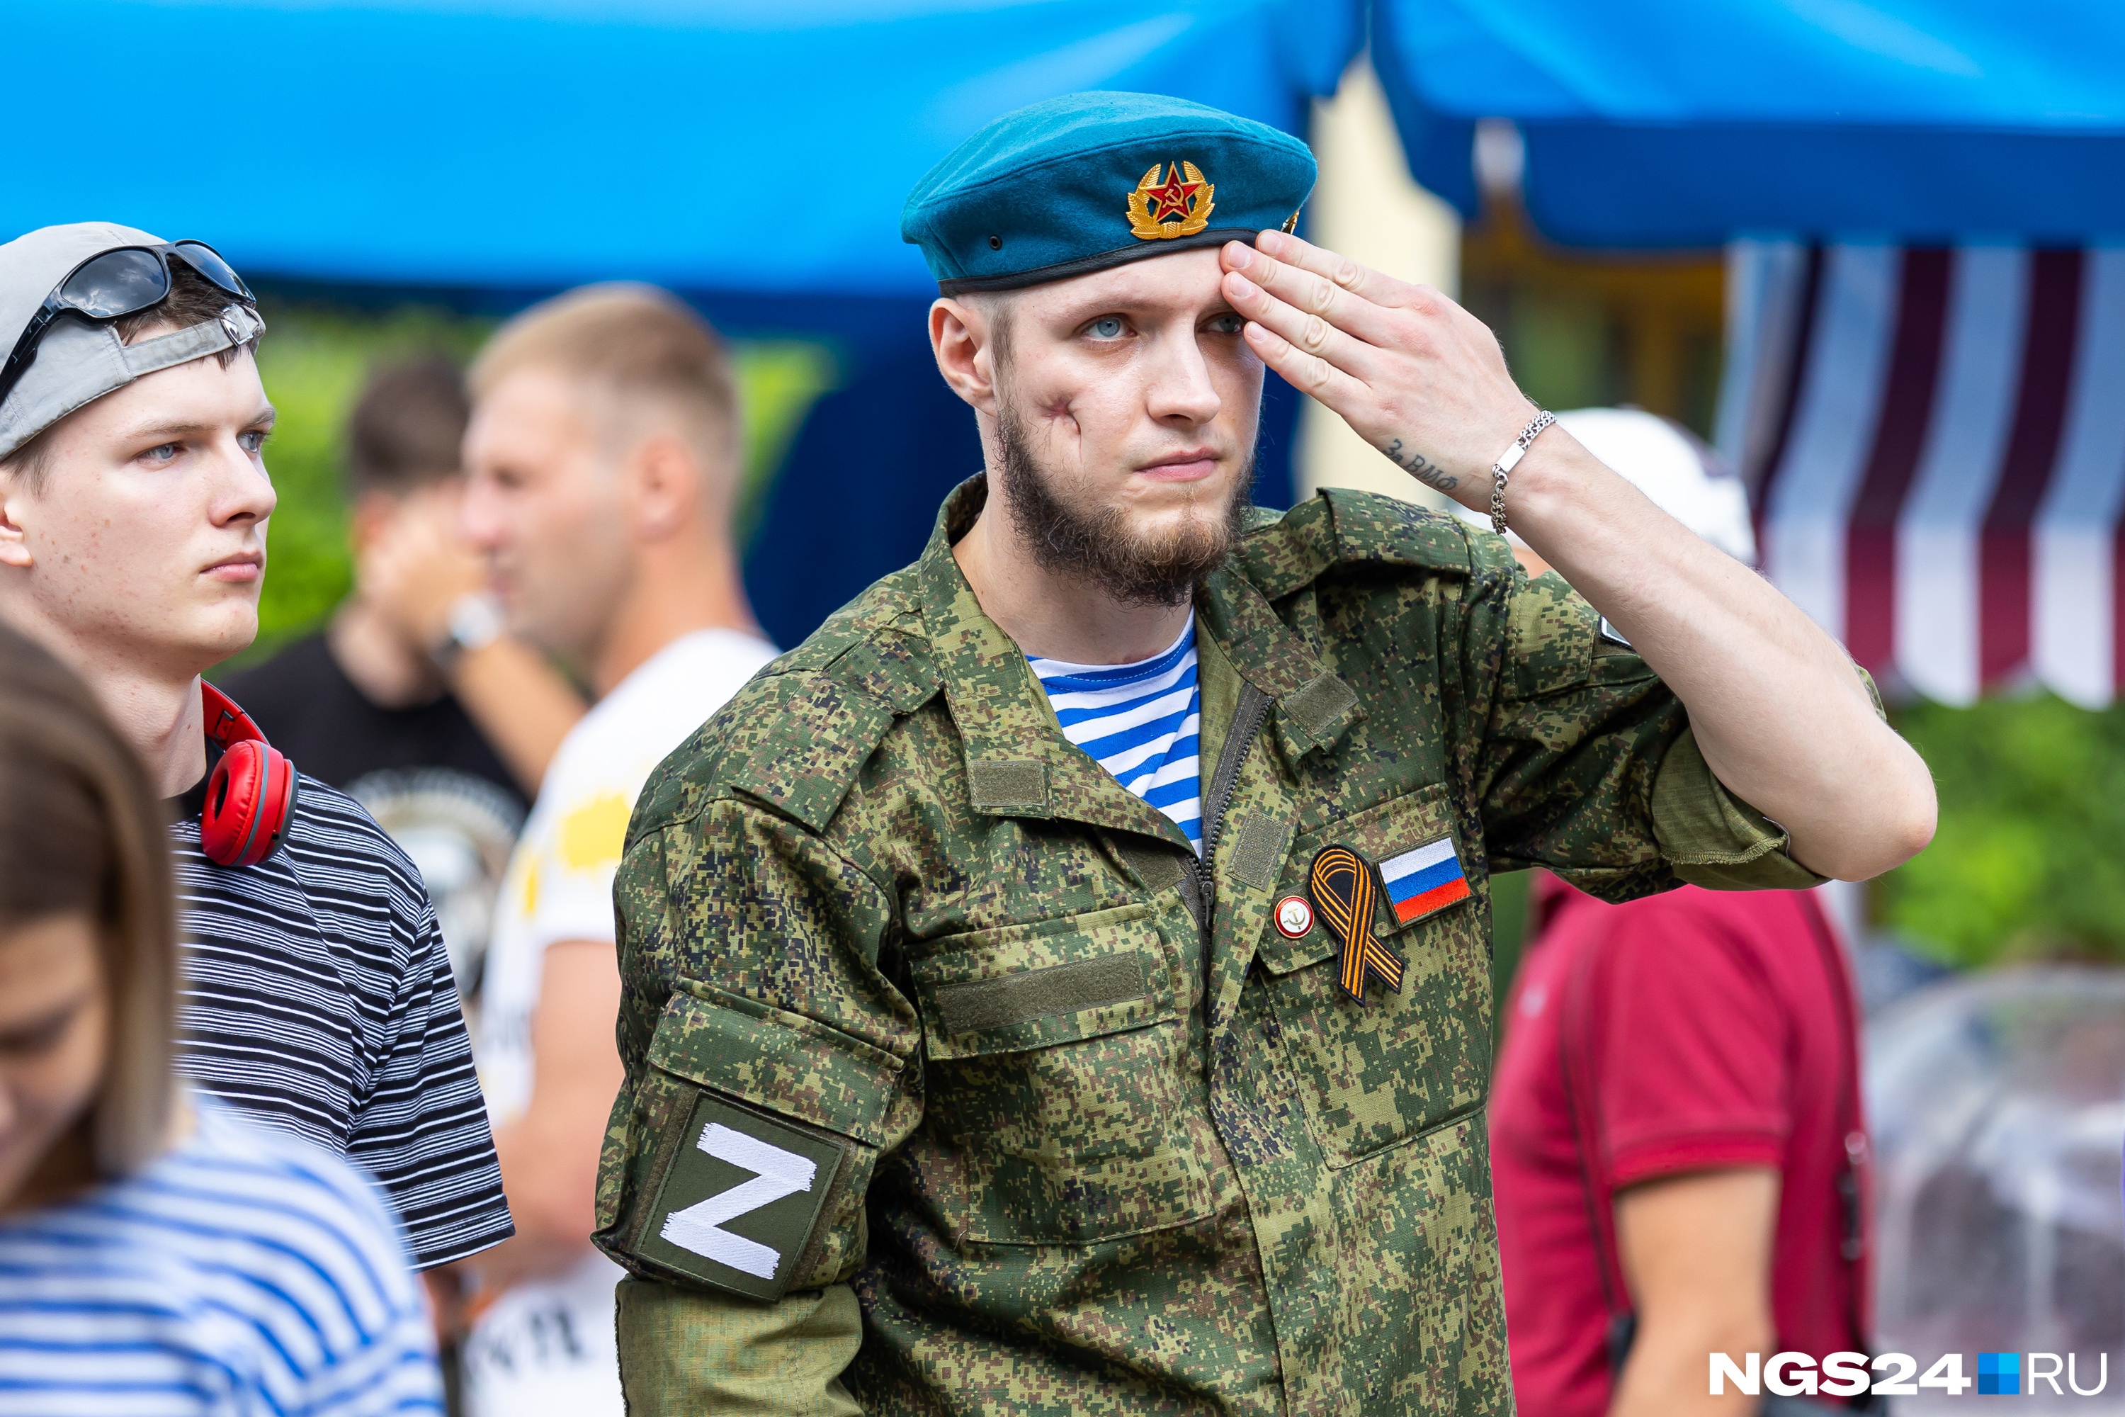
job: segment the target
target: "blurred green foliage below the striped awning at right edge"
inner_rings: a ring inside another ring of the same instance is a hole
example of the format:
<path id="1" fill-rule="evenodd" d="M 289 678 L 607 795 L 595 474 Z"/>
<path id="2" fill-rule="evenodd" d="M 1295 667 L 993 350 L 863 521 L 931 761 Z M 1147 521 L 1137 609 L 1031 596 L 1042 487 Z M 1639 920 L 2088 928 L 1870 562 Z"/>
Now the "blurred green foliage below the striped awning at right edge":
<path id="1" fill-rule="evenodd" d="M 1881 882 L 1883 922 L 1951 964 L 2125 960 L 2125 707 L 1915 703 L 1896 722 L 1934 769 L 1940 831 Z"/>

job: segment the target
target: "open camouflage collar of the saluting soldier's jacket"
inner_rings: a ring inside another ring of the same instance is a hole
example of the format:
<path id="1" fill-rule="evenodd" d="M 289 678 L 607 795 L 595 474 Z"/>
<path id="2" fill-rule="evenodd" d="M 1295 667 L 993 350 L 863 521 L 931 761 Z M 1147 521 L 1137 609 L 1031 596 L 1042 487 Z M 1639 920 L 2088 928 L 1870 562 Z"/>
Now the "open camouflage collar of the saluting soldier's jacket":
<path id="1" fill-rule="evenodd" d="M 1133 795 L 1062 737 L 1024 650 L 988 618 L 952 557 L 988 501 L 986 474 L 960 482 L 937 510 L 918 561 L 922 625 L 952 722 L 967 752 L 973 805 L 992 816 L 1094 822 L 1188 846 L 1158 809 Z M 1250 533 L 1277 535 L 1279 520 Z M 1328 748 L 1360 718 L 1358 695 L 1307 639 L 1277 618 L 1269 599 L 1239 571 L 1213 571 L 1196 595 L 1198 633 L 1218 637 L 1243 680 L 1275 703 L 1275 731 L 1290 758 Z M 1222 739 L 1226 724 L 1205 733 Z"/>

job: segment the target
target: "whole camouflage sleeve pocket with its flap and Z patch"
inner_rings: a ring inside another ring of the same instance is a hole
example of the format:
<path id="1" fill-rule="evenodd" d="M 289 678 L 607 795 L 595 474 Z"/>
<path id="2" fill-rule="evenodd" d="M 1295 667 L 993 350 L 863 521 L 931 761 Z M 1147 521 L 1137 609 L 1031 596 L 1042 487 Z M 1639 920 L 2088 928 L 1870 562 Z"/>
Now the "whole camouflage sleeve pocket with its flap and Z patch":
<path id="1" fill-rule="evenodd" d="M 648 1047 L 661 1126 L 625 1249 L 750 1298 L 827 1283 L 861 1251 L 863 1194 L 901 1064 L 863 1039 L 695 984 Z"/>

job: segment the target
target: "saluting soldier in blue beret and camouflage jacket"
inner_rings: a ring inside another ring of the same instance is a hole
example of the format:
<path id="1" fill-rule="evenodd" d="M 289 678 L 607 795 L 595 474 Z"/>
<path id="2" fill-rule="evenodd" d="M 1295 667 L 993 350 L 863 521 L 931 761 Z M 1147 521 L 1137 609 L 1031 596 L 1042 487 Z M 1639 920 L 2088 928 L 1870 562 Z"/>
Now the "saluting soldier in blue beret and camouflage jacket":
<path id="1" fill-rule="evenodd" d="M 1258 123 L 1080 93 L 910 198 L 986 472 L 635 807 L 631 1411 L 1507 1413 L 1490 877 L 1930 837 L 1838 646 L 1454 302 L 1292 238 L 1311 185 Z M 1398 501 L 1250 506 L 1264 365 L 1585 599 Z"/>

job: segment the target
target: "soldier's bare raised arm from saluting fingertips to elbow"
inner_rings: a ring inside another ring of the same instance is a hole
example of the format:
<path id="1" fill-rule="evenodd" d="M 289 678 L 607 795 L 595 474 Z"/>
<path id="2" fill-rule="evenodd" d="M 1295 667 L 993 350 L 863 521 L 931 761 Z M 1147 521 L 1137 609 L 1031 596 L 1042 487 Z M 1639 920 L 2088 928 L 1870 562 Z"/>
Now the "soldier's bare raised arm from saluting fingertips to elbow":
<path id="1" fill-rule="evenodd" d="M 1488 512 L 1492 463 L 1534 419 L 1492 331 L 1296 236 L 1228 242 L 1224 291 L 1262 361 L 1420 482 Z M 1549 427 L 1511 470 L 1517 531 L 1689 710 L 1734 795 L 1819 875 L 1866 880 L 1934 835 L 1925 763 L 1876 714 L 1844 650 L 1770 582 L 1708 546 Z"/>

